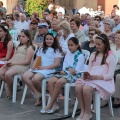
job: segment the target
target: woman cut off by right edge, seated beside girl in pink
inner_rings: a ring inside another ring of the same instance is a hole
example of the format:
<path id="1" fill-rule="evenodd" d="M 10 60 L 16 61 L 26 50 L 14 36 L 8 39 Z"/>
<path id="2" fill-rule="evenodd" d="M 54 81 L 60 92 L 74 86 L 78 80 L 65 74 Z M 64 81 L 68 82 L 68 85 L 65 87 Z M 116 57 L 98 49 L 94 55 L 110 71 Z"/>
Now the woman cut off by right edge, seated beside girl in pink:
<path id="1" fill-rule="evenodd" d="M 120 30 L 115 34 L 115 45 L 111 47 L 111 50 L 114 52 L 116 57 L 118 57 L 118 63 L 114 74 L 116 90 L 113 94 L 113 97 L 115 97 L 113 107 L 116 108 L 120 107 Z"/>

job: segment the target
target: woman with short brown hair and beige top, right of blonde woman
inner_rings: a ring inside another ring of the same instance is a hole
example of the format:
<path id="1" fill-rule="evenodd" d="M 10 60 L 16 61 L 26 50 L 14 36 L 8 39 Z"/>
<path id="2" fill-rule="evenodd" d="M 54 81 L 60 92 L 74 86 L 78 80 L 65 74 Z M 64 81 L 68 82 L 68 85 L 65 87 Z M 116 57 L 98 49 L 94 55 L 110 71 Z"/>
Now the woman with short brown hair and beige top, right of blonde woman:
<path id="1" fill-rule="evenodd" d="M 70 26 L 75 37 L 79 40 L 79 43 L 82 44 L 86 39 L 84 32 L 79 29 L 80 18 L 72 18 L 70 20 Z"/>

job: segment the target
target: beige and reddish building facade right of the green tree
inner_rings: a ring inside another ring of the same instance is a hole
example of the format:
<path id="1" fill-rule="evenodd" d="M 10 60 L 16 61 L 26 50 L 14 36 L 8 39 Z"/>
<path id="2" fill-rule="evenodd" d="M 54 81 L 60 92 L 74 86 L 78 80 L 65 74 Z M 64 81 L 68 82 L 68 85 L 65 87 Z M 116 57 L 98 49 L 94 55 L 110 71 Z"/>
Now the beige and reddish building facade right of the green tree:
<path id="1" fill-rule="evenodd" d="M 88 8 L 97 10 L 97 6 L 101 5 L 105 14 L 110 14 L 112 7 L 115 4 L 120 7 L 120 0 L 54 0 L 54 2 L 64 6 L 66 9 L 80 9 L 84 3 L 87 3 Z"/>

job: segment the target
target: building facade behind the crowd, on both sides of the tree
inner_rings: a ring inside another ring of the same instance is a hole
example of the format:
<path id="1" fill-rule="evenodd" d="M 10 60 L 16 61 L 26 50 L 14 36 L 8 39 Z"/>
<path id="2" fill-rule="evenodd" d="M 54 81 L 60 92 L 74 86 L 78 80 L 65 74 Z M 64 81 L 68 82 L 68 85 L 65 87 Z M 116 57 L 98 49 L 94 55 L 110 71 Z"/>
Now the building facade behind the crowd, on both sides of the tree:
<path id="1" fill-rule="evenodd" d="M 19 2 L 24 2 L 25 0 L 1 0 L 4 7 L 7 8 L 7 14 L 12 13 L 12 9 Z M 105 14 L 110 14 L 113 5 L 120 5 L 120 0 L 53 0 L 54 3 L 64 6 L 67 10 L 78 8 L 80 9 L 84 3 L 87 3 L 88 8 L 93 8 L 97 10 L 98 5 L 102 5 Z M 120 6 L 119 6 L 120 7 Z"/>

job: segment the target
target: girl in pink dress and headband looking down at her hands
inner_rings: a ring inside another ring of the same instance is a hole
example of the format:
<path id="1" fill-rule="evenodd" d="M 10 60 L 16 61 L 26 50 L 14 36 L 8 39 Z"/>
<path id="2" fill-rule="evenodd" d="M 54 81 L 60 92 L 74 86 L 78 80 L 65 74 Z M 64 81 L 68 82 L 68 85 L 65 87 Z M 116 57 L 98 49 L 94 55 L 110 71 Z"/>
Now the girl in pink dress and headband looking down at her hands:
<path id="1" fill-rule="evenodd" d="M 110 50 L 108 37 L 101 34 L 95 40 L 97 51 L 89 60 L 88 72 L 76 82 L 76 96 L 80 103 L 81 114 L 77 120 L 90 120 L 92 93 L 98 91 L 102 99 L 108 99 L 115 91 L 114 70 L 116 60 Z"/>

